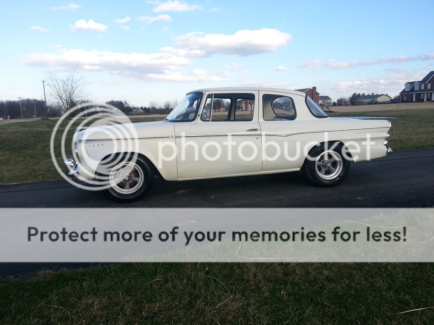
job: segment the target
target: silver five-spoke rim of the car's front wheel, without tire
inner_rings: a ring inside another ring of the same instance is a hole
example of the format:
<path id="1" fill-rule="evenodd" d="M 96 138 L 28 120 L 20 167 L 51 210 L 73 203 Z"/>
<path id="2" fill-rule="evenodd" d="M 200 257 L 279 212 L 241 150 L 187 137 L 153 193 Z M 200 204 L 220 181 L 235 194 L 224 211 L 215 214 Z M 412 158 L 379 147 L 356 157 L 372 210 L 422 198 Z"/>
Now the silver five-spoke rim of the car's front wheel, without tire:
<path id="1" fill-rule="evenodd" d="M 119 162 L 110 171 L 109 180 L 112 188 L 121 194 L 136 192 L 143 184 L 143 170 L 135 162 Z"/>

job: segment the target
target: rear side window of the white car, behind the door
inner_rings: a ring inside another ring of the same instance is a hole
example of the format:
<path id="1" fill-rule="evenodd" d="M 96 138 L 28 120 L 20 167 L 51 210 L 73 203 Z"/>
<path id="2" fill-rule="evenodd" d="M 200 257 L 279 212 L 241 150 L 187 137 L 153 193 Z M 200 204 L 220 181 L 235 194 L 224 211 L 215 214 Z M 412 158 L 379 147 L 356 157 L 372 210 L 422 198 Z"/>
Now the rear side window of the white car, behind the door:
<path id="1" fill-rule="evenodd" d="M 294 120 L 296 108 L 290 97 L 265 94 L 262 96 L 264 121 Z"/>

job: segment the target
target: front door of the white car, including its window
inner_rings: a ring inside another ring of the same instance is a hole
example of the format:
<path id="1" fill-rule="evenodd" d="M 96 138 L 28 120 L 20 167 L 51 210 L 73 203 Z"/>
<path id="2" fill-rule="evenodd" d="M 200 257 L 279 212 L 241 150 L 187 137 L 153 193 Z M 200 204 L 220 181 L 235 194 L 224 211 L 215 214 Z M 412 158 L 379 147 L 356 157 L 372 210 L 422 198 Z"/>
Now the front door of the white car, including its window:
<path id="1" fill-rule="evenodd" d="M 258 91 L 206 91 L 196 123 L 177 123 L 178 179 L 260 172 Z"/>

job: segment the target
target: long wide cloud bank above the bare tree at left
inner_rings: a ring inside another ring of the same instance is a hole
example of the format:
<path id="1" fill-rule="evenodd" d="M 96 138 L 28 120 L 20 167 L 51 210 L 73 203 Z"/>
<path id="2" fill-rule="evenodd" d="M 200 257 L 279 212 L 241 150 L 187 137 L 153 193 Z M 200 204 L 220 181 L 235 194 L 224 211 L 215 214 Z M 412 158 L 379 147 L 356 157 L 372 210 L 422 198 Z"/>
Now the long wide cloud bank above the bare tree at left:
<path id="1" fill-rule="evenodd" d="M 174 71 L 181 66 L 191 65 L 188 59 L 170 53 L 116 53 L 83 49 L 33 53 L 26 55 L 21 63 L 53 70 L 78 65 L 83 70 L 109 71 L 115 75 L 131 76 Z"/>

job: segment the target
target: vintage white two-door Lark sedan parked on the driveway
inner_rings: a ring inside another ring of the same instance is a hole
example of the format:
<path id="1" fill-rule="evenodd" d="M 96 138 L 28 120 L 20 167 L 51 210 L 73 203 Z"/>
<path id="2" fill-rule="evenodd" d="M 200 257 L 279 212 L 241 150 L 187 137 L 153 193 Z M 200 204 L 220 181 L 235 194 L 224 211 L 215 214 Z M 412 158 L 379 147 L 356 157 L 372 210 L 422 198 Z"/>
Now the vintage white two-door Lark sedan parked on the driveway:
<path id="1" fill-rule="evenodd" d="M 189 92 L 164 120 L 76 133 L 67 173 L 104 183 L 117 201 L 148 193 L 154 175 L 168 181 L 293 172 L 337 185 L 350 162 L 391 153 L 387 120 L 328 117 L 306 94 L 273 88 Z"/>

